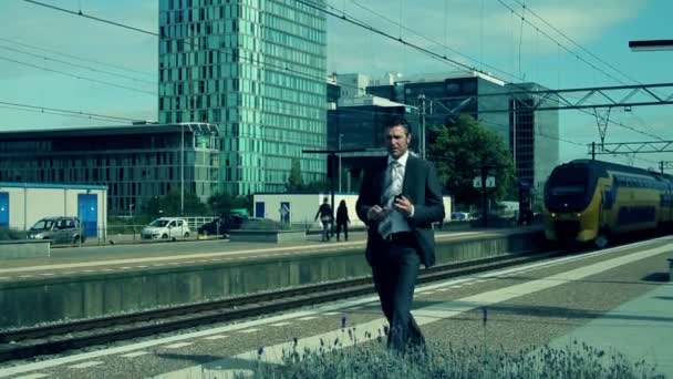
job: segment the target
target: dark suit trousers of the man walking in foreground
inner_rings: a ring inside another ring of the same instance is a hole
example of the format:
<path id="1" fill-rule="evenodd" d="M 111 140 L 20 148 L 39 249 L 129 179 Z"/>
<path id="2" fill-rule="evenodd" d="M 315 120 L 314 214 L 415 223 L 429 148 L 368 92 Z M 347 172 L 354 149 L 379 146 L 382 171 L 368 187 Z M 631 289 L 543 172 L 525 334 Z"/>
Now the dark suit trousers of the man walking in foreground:
<path id="1" fill-rule="evenodd" d="M 411 314 L 421 257 L 413 242 L 382 242 L 372 259 L 374 286 L 390 324 L 387 346 L 397 351 L 423 349 L 425 338 Z"/>

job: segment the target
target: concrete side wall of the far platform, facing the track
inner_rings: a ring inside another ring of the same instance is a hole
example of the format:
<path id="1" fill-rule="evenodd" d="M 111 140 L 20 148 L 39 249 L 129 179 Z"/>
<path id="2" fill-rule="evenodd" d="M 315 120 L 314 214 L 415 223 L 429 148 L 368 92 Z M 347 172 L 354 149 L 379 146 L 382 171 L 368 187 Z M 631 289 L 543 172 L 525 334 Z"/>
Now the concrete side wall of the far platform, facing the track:
<path id="1" fill-rule="evenodd" d="M 437 243 L 437 263 L 543 246 L 541 232 Z M 371 275 L 363 248 L 253 262 L 0 283 L 0 329 L 206 301 Z"/>

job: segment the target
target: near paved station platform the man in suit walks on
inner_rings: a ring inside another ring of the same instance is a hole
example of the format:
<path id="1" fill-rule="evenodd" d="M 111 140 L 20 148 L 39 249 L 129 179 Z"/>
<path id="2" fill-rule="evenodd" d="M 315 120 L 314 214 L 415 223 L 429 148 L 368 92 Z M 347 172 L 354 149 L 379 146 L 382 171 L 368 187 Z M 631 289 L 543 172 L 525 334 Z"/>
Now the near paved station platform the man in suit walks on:
<path id="1" fill-rule="evenodd" d="M 583 342 L 673 377 L 672 252 L 673 238 L 660 237 L 424 285 L 416 288 L 413 314 L 433 349 L 519 351 Z M 299 349 L 338 339 L 341 349 L 353 345 L 353 334 L 376 348 L 384 326 L 377 298 L 366 296 L 14 362 L 0 367 L 0 378 L 227 378 L 259 360 L 280 361 L 294 339 Z"/>

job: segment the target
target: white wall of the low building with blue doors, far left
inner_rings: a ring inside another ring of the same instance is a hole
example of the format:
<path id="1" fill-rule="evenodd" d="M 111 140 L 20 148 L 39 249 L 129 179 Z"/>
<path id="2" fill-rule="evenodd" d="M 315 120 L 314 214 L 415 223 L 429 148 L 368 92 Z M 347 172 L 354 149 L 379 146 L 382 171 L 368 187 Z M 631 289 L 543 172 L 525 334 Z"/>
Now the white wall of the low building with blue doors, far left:
<path id="1" fill-rule="evenodd" d="M 27 231 L 43 217 L 77 216 L 77 195 L 97 196 L 99 237 L 104 237 L 107 222 L 107 190 L 101 186 L 0 183 L 0 192 L 9 193 L 9 226 Z"/>

